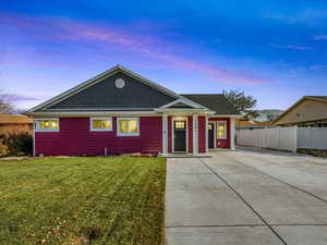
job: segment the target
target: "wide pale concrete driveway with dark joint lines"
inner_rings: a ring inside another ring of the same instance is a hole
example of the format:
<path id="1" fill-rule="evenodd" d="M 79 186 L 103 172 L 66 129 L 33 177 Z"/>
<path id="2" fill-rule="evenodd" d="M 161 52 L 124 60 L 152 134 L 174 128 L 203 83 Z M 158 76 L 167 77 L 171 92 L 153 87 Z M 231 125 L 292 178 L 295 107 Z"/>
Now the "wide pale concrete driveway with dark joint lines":
<path id="1" fill-rule="evenodd" d="M 327 160 L 250 148 L 168 159 L 166 242 L 327 244 Z"/>

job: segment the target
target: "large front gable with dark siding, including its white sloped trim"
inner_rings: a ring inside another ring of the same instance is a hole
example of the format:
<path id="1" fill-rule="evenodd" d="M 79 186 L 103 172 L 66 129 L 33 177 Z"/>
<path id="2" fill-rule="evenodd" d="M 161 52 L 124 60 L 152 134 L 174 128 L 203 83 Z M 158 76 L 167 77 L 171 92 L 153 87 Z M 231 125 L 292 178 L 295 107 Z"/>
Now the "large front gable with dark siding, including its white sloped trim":
<path id="1" fill-rule="evenodd" d="M 117 78 L 123 78 L 125 86 L 118 88 Z M 27 114 L 39 110 L 59 109 L 121 109 L 156 108 L 180 96 L 121 65 L 88 79 L 52 99 L 32 108 Z"/>

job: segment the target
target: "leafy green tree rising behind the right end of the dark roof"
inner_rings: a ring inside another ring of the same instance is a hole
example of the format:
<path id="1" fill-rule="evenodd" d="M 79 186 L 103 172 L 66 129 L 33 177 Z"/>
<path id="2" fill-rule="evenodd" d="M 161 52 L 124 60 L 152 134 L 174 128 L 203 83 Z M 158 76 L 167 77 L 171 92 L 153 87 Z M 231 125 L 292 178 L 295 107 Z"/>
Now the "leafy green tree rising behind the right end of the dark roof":
<path id="1" fill-rule="evenodd" d="M 245 119 L 255 119 L 259 115 L 259 113 L 254 110 L 256 99 L 253 96 L 246 96 L 244 91 L 237 89 L 229 91 L 222 90 L 222 94 L 237 107 L 238 111 L 240 111 Z"/>

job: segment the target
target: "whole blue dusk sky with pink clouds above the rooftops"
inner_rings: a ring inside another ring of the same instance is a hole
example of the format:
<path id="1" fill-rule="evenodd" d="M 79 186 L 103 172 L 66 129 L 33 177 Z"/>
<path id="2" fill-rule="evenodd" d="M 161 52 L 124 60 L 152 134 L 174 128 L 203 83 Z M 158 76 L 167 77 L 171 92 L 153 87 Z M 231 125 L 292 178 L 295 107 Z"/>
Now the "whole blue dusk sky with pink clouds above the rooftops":
<path id="1" fill-rule="evenodd" d="M 0 1 L 0 90 L 22 109 L 117 63 L 258 109 L 327 91 L 327 1 Z"/>

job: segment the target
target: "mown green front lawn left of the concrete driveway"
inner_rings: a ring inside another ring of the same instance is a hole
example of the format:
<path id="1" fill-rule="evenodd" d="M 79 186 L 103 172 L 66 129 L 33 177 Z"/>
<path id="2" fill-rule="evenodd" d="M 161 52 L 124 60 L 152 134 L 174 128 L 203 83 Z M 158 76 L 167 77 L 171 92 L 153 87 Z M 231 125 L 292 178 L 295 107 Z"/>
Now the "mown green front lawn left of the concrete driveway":
<path id="1" fill-rule="evenodd" d="M 164 244 L 164 158 L 0 161 L 0 244 Z"/>

